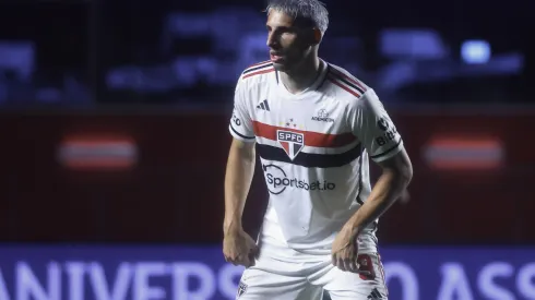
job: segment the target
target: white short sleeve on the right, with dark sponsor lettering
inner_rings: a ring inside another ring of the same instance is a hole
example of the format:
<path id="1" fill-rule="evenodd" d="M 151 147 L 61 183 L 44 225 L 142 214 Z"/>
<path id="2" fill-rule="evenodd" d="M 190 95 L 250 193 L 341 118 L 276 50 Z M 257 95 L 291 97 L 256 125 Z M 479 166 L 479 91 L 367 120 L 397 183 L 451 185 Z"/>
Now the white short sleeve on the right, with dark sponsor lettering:
<path id="1" fill-rule="evenodd" d="M 353 100 L 348 122 L 374 161 L 383 161 L 403 149 L 402 137 L 373 89 Z"/>

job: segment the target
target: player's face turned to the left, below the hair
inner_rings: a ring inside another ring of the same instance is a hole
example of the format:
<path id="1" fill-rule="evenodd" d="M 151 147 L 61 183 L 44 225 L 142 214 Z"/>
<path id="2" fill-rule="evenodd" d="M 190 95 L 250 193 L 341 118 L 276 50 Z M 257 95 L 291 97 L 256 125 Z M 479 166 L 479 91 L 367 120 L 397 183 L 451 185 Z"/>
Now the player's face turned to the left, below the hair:
<path id="1" fill-rule="evenodd" d="M 310 34 L 306 28 L 295 26 L 294 17 L 275 10 L 268 15 L 268 47 L 270 59 L 278 71 L 292 70 L 311 52 Z"/>

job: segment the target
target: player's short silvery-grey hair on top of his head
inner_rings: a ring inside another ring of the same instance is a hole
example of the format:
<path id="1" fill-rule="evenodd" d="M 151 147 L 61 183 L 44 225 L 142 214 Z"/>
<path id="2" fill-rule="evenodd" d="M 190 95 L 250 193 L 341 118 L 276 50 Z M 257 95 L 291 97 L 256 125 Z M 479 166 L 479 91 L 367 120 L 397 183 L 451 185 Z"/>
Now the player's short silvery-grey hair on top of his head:
<path id="1" fill-rule="evenodd" d="M 265 12 L 270 10 L 284 12 L 295 20 L 318 27 L 322 34 L 329 27 L 329 12 L 325 4 L 318 0 L 269 0 Z"/>

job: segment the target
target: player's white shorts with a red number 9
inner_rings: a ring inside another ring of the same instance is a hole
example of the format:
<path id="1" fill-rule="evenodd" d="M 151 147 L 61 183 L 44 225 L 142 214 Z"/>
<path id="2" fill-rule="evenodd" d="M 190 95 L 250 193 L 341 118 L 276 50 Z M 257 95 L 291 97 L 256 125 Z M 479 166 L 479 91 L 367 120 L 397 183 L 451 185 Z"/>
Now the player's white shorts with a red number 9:
<path id="1" fill-rule="evenodd" d="M 241 276 L 236 299 L 321 300 L 326 290 L 332 300 L 387 300 L 380 255 L 360 253 L 358 263 L 371 276 L 341 271 L 331 255 L 305 254 L 263 241 L 255 265 Z"/>

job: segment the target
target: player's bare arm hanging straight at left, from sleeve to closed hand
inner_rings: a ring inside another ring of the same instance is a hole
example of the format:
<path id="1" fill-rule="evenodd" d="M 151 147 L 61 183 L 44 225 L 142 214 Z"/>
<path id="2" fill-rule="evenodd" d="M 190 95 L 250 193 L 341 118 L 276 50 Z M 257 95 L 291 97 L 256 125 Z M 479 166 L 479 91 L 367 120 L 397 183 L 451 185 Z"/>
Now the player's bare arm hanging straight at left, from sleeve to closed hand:
<path id="1" fill-rule="evenodd" d="M 225 220 L 223 253 L 235 265 L 250 266 L 258 251 L 254 240 L 243 231 L 241 216 L 254 172 L 254 143 L 234 139 L 225 175 Z"/>

